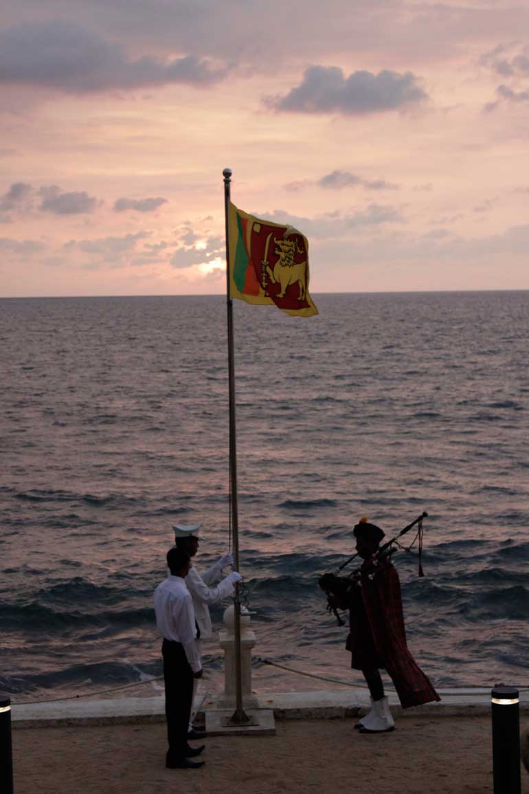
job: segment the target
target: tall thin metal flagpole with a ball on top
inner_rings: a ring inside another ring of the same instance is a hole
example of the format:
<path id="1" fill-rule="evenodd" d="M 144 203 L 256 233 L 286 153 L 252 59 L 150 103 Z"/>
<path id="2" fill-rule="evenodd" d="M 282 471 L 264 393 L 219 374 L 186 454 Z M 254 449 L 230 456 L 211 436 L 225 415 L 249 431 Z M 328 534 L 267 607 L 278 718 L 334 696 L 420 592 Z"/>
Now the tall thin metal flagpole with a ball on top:
<path id="1" fill-rule="evenodd" d="M 232 514 L 233 557 L 235 569 L 239 571 L 239 514 L 237 506 L 237 448 L 235 422 L 235 357 L 233 354 L 233 301 L 230 295 L 229 260 L 229 202 L 232 169 L 224 168 L 224 214 L 226 218 L 226 302 L 228 307 L 228 381 L 229 381 L 229 469 L 230 499 Z M 243 676 L 240 649 L 240 592 L 239 582 L 235 585 L 235 661 L 236 661 L 236 710 L 229 722 L 233 725 L 251 722 L 243 709 Z"/>

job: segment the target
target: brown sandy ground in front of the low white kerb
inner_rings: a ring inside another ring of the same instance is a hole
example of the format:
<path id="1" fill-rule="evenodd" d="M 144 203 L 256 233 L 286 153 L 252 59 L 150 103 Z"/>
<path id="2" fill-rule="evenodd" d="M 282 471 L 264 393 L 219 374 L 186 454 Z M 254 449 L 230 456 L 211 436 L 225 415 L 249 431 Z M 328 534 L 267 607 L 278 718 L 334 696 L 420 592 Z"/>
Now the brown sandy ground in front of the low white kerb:
<path id="1" fill-rule="evenodd" d="M 207 738 L 206 764 L 194 770 L 165 769 L 163 723 L 17 729 L 15 794 L 493 792 L 489 717 L 405 717 L 378 735 L 353 725 L 281 720 L 276 736 Z"/>

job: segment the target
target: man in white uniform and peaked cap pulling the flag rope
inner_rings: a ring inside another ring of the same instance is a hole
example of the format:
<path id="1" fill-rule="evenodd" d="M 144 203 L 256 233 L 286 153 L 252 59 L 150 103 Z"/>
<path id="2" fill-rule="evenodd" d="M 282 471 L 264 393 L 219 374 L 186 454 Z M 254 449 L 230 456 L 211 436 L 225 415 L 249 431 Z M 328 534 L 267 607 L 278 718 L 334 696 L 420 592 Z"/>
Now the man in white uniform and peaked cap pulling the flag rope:
<path id="1" fill-rule="evenodd" d="M 201 526 L 201 524 L 175 524 L 173 530 L 177 549 L 185 550 L 190 554 L 190 557 L 194 557 L 198 550 L 198 530 L 200 530 Z M 223 576 L 222 570 L 227 565 L 232 565 L 232 563 L 233 555 L 227 552 L 222 557 L 219 557 L 215 565 L 212 565 L 207 571 L 199 573 L 195 567 L 192 567 L 186 576 L 186 588 L 191 593 L 197 621 L 197 645 L 199 649 L 201 640 L 207 639 L 213 634 L 209 616 L 209 604 L 217 603 L 233 595 L 234 584 L 240 582 L 243 578 L 236 571 L 228 573 L 228 576 Z M 197 692 L 197 683 L 195 679 L 193 697 Z M 193 727 L 191 721 L 188 738 L 202 738 L 202 735 Z"/>

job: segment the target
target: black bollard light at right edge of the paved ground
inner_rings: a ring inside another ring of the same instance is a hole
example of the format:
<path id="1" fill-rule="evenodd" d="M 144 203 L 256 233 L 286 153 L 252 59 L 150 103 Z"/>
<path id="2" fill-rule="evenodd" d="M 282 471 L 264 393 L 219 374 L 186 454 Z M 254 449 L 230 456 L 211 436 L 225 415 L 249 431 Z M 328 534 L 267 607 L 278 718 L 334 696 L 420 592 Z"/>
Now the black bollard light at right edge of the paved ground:
<path id="1" fill-rule="evenodd" d="M 494 794 L 520 794 L 519 692 L 516 687 L 494 687 L 491 706 Z"/>

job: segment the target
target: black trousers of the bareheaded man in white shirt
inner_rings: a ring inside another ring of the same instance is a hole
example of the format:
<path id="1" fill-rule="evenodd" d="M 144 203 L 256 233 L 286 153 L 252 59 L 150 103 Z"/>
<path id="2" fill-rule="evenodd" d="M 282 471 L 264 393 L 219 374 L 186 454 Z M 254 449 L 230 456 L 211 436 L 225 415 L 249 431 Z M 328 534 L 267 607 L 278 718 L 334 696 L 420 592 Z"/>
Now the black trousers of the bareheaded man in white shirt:
<path id="1" fill-rule="evenodd" d="M 193 670 L 180 642 L 164 639 L 162 656 L 169 755 L 183 758 L 193 705 Z"/>

